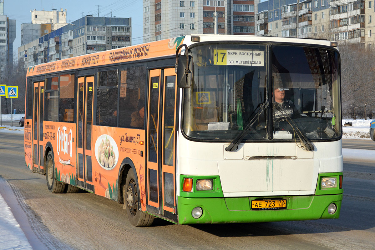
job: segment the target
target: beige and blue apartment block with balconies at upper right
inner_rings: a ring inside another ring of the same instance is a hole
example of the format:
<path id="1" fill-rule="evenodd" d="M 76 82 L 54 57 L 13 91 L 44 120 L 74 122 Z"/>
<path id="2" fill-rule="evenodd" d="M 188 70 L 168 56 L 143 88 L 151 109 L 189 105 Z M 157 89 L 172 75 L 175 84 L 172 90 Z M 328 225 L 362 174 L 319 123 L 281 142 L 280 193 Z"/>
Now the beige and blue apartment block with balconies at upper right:
<path id="1" fill-rule="evenodd" d="M 278 28 L 281 11 L 281 34 Z M 255 27 L 261 36 L 375 43 L 374 1 L 269 0 L 258 4 Z M 276 28 L 278 27 L 278 28 Z"/>

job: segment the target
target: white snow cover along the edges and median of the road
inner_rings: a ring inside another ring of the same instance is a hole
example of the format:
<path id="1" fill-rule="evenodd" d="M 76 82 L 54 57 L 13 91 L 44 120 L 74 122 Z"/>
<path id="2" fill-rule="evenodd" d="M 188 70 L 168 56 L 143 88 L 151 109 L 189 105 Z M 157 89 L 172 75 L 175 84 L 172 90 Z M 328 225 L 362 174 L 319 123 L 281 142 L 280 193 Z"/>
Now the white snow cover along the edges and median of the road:
<path id="1" fill-rule="evenodd" d="M 13 127 L 0 126 L 0 133 L 20 133 L 23 134 L 24 127 L 19 127 L 18 122 L 24 114 L 13 115 Z M 3 121 L 10 121 L 10 115 L 2 115 Z M 370 139 L 369 124 L 372 120 L 364 119 L 344 119 L 346 122 L 353 123 L 352 126 L 343 127 L 343 138 L 345 139 Z M 369 159 L 375 161 L 373 150 L 359 150 L 343 148 L 344 158 L 351 159 Z M 0 249 L 32 249 L 24 232 L 17 223 L 17 220 L 10 211 L 7 203 L 0 194 Z"/>

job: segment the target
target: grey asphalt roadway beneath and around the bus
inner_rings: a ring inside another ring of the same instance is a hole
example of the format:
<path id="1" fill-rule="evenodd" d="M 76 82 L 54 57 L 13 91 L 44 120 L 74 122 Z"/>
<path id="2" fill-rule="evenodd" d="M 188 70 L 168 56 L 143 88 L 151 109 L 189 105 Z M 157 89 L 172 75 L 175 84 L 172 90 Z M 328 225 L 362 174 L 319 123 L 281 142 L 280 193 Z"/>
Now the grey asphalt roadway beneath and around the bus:
<path id="1" fill-rule="evenodd" d="M 23 135 L 0 133 L 0 175 L 47 249 L 374 249 L 375 163 L 344 162 L 344 200 L 335 220 L 130 225 L 122 205 L 92 193 L 51 194 L 25 166 Z"/>

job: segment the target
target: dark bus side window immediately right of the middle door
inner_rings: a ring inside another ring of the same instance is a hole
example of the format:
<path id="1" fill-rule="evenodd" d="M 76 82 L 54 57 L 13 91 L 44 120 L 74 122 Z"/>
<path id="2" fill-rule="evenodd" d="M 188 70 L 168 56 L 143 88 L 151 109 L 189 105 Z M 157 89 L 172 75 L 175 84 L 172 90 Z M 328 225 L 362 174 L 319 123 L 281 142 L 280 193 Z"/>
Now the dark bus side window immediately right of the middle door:
<path id="1" fill-rule="evenodd" d="M 98 72 L 96 125 L 117 126 L 117 69 Z"/>

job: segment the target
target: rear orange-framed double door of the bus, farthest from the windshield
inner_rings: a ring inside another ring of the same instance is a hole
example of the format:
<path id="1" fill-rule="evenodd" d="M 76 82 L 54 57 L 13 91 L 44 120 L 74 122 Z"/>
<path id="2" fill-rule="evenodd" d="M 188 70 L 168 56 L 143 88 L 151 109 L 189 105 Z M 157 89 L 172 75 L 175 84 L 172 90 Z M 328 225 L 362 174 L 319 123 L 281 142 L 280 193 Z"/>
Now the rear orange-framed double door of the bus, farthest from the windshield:
<path id="1" fill-rule="evenodd" d="M 44 82 L 34 82 L 33 97 L 33 171 L 44 174 L 43 151 L 43 92 Z"/>

